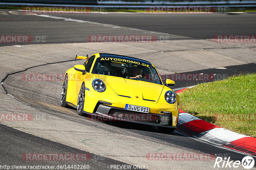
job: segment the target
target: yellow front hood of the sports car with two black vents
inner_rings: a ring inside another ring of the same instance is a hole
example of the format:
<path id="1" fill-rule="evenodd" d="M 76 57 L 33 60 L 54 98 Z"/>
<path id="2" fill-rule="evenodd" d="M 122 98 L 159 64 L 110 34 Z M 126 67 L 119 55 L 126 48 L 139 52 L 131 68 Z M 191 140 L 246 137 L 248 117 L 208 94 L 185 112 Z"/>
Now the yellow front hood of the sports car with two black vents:
<path id="1" fill-rule="evenodd" d="M 105 79 L 118 96 L 138 98 L 151 102 L 158 101 L 164 88 L 160 84 L 124 79 L 122 77 L 102 76 L 102 78 Z"/>

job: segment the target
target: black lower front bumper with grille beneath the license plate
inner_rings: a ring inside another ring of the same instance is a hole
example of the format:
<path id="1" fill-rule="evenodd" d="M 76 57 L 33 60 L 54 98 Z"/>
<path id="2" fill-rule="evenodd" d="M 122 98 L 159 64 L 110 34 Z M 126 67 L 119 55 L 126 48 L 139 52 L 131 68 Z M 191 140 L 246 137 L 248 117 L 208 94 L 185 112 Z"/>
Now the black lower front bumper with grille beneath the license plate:
<path id="1" fill-rule="evenodd" d="M 97 110 L 96 110 L 97 109 Z M 176 128 L 172 126 L 172 113 L 170 114 L 154 114 L 154 113 L 141 113 L 122 108 L 109 106 L 106 104 L 99 104 L 98 108 L 95 108 L 96 112 L 88 113 L 89 118 L 100 121 L 127 121 L 140 124 L 148 124 L 154 126 L 163 126 Z"/>

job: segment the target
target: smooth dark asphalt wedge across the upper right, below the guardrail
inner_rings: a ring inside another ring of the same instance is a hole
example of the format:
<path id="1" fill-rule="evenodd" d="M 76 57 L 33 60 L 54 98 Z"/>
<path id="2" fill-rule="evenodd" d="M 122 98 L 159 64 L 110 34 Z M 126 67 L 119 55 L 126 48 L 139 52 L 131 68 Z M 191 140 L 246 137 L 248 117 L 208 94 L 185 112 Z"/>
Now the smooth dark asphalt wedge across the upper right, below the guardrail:
<path id="1" fill-rule="evenodd" d="M 102 16 L 103 15 L 103 16 Z M 75 19 L 155 32 L 212 39 L 215 35 L 254 35 L 256 14 L 89 14 L 63 15 Z M 61 15 L 58 15 L 61 16 Z M 253 34 L 254 33 L 254 34 Z"/>

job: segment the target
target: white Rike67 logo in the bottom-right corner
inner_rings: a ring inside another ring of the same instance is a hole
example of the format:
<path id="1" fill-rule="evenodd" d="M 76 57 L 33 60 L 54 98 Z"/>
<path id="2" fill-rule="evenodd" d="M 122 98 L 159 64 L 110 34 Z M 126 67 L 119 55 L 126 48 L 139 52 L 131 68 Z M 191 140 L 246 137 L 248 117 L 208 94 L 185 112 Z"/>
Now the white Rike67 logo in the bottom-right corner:
<path id="1" fill-rule="evenodd" d="M 230 160 L 230 157 L 228 159 L 225 157 L 224 160 L 222 157 L 216 157 L 214 168 L 238 168 L 239 166 L 243 166 L 245 169 L 251 169 L 254 166 L 254 159 L 251 156 L 245 156 L 242 161 L 240 160 Z"/>

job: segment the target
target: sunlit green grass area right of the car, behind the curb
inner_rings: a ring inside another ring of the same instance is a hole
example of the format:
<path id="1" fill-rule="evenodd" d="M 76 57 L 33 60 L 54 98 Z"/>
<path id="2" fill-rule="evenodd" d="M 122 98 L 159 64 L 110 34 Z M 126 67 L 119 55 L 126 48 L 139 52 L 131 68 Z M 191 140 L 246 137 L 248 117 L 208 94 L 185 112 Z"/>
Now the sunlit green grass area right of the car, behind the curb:
<path id="1" fill-rule="evenodd" d="M 203 83 L 179 96 L 183 111 L 230 131 L 256 137 L 256 74 Z"/>

